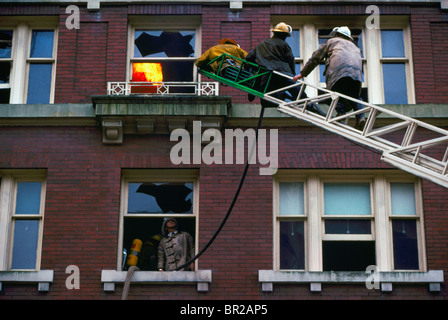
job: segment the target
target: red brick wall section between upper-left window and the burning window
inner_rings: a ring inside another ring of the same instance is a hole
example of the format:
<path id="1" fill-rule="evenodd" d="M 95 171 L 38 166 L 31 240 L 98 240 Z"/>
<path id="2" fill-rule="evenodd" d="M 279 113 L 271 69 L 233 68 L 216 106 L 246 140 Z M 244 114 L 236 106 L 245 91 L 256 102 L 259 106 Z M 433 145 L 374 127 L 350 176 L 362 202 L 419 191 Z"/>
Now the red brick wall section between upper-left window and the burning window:
<path id="1" fill-rule="evenodd" d="M 55 103 L 89 103 L 103 95 L 108 81 L 126 80 L 126 7 L 99 13 L 80 8 L 80 28 L 67 29 L 61 7 Z"/>

